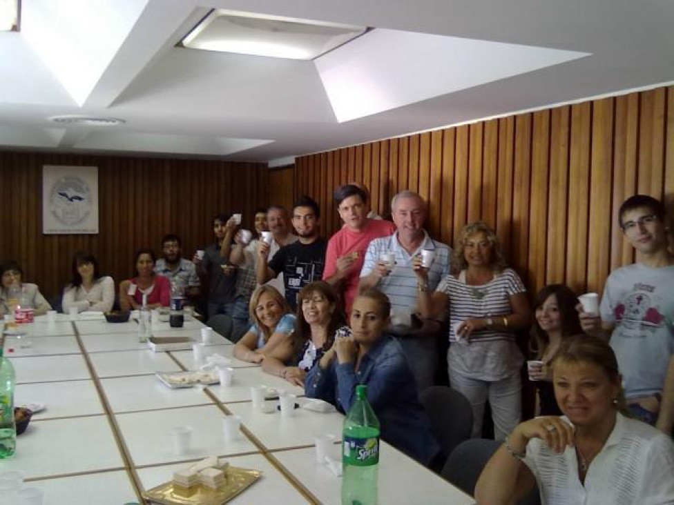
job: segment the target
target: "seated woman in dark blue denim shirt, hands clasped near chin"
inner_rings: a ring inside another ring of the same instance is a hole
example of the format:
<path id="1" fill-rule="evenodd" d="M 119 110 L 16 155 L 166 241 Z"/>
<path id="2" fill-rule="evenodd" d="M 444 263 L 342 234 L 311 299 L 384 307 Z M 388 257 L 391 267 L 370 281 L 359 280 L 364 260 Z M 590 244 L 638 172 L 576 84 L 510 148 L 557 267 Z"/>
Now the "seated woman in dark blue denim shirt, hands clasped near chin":
<path id="1" fill-rule="evenodd" d="M 391 302 L 381 291 L 360 293 L 352 305 L 352 333 L 337 333 L 334 344 L 307 373 L 305 394 L 348 412 L 356 399 L 356 386 L 367 385 L 367 400 L 381 424 L 381 437 L 429 465 L 439 446 L 418 401 L 403 348 L 385 333 L 390 315 Z"/>

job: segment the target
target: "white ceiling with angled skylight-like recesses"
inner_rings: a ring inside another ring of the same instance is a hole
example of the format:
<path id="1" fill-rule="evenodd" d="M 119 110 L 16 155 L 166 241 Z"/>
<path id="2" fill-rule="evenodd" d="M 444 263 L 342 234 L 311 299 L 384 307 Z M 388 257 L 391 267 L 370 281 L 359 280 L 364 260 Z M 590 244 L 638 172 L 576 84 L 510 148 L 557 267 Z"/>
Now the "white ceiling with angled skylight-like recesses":
<path id="1" fill-rule="evenodd" d="M 674 81 L 671 0 L 204 1 L 23 0 L 0 148 L 278 163 Z M 175 47 L 211 8 L 376 29 L 316 61 Z"/>

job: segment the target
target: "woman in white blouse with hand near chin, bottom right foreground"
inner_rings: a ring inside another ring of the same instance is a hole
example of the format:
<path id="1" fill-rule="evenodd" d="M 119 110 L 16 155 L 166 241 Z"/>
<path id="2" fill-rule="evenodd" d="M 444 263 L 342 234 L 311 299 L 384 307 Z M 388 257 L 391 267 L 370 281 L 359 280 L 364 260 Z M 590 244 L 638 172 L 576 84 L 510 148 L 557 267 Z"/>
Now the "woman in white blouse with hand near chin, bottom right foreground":
<path id="1" fill-rule="evenodd" d="M 672 439 L 622 414 L 622 378 L 604 339 L 564 341 L 552 382 L 564 416 L 512 430 L 477 482 L 478 504 L 515 503 L 535 482 L 546 505 L 674 503 Z"/>

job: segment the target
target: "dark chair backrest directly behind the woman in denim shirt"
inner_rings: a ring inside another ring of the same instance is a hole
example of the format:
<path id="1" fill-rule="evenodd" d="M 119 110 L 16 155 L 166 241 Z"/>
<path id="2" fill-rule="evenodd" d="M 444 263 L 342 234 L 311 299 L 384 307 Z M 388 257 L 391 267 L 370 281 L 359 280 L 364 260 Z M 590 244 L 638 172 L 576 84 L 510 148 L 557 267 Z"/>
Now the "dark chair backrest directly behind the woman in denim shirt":
<path id="1" fill-rule="evenodd" d="M 468 399 L 447 386 L 431 386 L 421 391 L 419 400 L 430 417 L 433 432 L 445 457 L 470 438 L 473 411 Z"/>

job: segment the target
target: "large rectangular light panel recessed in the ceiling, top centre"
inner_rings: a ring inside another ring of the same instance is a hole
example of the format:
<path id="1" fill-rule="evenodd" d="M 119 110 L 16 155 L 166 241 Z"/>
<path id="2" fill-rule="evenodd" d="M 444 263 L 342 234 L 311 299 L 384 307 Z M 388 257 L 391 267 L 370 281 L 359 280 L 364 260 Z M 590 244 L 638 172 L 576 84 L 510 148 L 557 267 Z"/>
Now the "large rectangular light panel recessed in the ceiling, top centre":
<path id="1" fill-rule="evenodd" d="M 365 32 L 362 26 L 214 9 L 181 44 L 242 55 L 314 59 Z"/>

